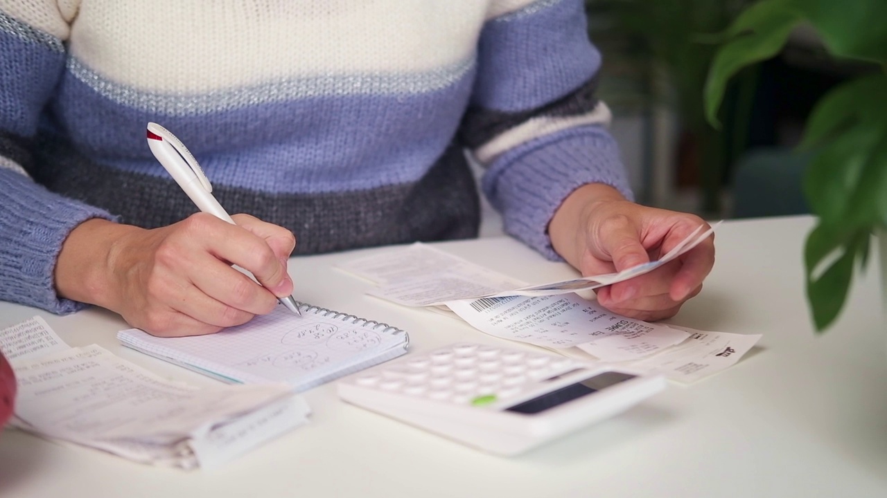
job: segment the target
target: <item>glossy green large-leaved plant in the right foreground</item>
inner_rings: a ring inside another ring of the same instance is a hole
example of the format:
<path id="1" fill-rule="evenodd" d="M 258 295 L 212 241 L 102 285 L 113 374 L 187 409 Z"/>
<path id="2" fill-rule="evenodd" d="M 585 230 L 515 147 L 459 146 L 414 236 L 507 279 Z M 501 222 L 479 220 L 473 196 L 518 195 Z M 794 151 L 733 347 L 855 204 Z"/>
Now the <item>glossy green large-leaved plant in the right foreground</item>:
<path id="1" fill-rule="evenodd" d="M 807 298 L 818 331 L 844 306 L 854 268 L 865 268 L 874 230 L 887 228 L 887 2 L 762 0 L 727 28 L 710 68 L 706 117 L 718 122 L 727 81 L 742 67 L 778 54 L 806 24 L 835 58 L 875 68 L 820 98 L 800 148 L 813 152 L 805 197 L 817 217 L 807 236 Z"/>

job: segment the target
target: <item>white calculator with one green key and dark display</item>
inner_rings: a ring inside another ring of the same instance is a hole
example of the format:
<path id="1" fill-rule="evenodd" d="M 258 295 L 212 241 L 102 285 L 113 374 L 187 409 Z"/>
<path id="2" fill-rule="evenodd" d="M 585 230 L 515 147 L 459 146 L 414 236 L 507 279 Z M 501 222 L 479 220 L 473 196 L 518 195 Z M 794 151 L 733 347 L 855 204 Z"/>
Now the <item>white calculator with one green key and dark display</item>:
<path id="1" fill-rule="evenodd" d="M 614 416 L 665 379 L 510 347 L 458 343 L 345 377 L 342 400 L 497 455 Z"/>

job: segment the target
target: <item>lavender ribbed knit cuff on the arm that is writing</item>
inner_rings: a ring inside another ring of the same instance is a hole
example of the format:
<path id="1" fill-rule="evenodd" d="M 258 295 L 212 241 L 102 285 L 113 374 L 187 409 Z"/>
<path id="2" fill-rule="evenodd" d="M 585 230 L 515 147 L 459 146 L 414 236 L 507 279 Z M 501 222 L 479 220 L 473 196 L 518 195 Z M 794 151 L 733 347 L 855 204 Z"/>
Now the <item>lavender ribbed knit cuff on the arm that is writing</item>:
<path id="1" fill-rule="evenodd" d="M 63 198 L 10 169 L 0 168 L 0 300 L 73 313 L 83 303 L 60 299 L 54 269 L 71 230 L 90 218 L 114 217 L 97 207 Z"/>

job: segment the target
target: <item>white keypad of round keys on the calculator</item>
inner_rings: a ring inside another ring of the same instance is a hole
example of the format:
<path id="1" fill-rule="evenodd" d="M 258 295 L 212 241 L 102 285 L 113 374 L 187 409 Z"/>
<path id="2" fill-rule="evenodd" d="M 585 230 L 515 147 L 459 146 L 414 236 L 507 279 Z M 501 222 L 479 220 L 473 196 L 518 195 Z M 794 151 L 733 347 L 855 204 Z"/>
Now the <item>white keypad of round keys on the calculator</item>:
<path id="1" fill-rule="evenodd" d="M 381 365 L 357 376 L 354 382 L 389 393 L 482 406 L 518 396 L 539 381 L 576 366 L 576 362 L 552 354 L 456 344 Z"/>

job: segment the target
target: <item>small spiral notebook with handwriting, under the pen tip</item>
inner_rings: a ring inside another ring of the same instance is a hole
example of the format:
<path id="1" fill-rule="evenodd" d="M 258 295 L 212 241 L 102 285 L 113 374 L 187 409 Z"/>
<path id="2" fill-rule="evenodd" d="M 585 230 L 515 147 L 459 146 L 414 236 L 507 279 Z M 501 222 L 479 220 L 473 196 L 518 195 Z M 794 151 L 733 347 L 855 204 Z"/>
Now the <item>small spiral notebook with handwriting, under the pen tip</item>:
<path id="1" fill-rule="evenodd" d="M 302 304 L 216 334 L 157 338 L 130 329 L 123 346 L 229 383 L 283 382 L 304 391 L 406 353 L 410 337 L 387 323 Z"/>

